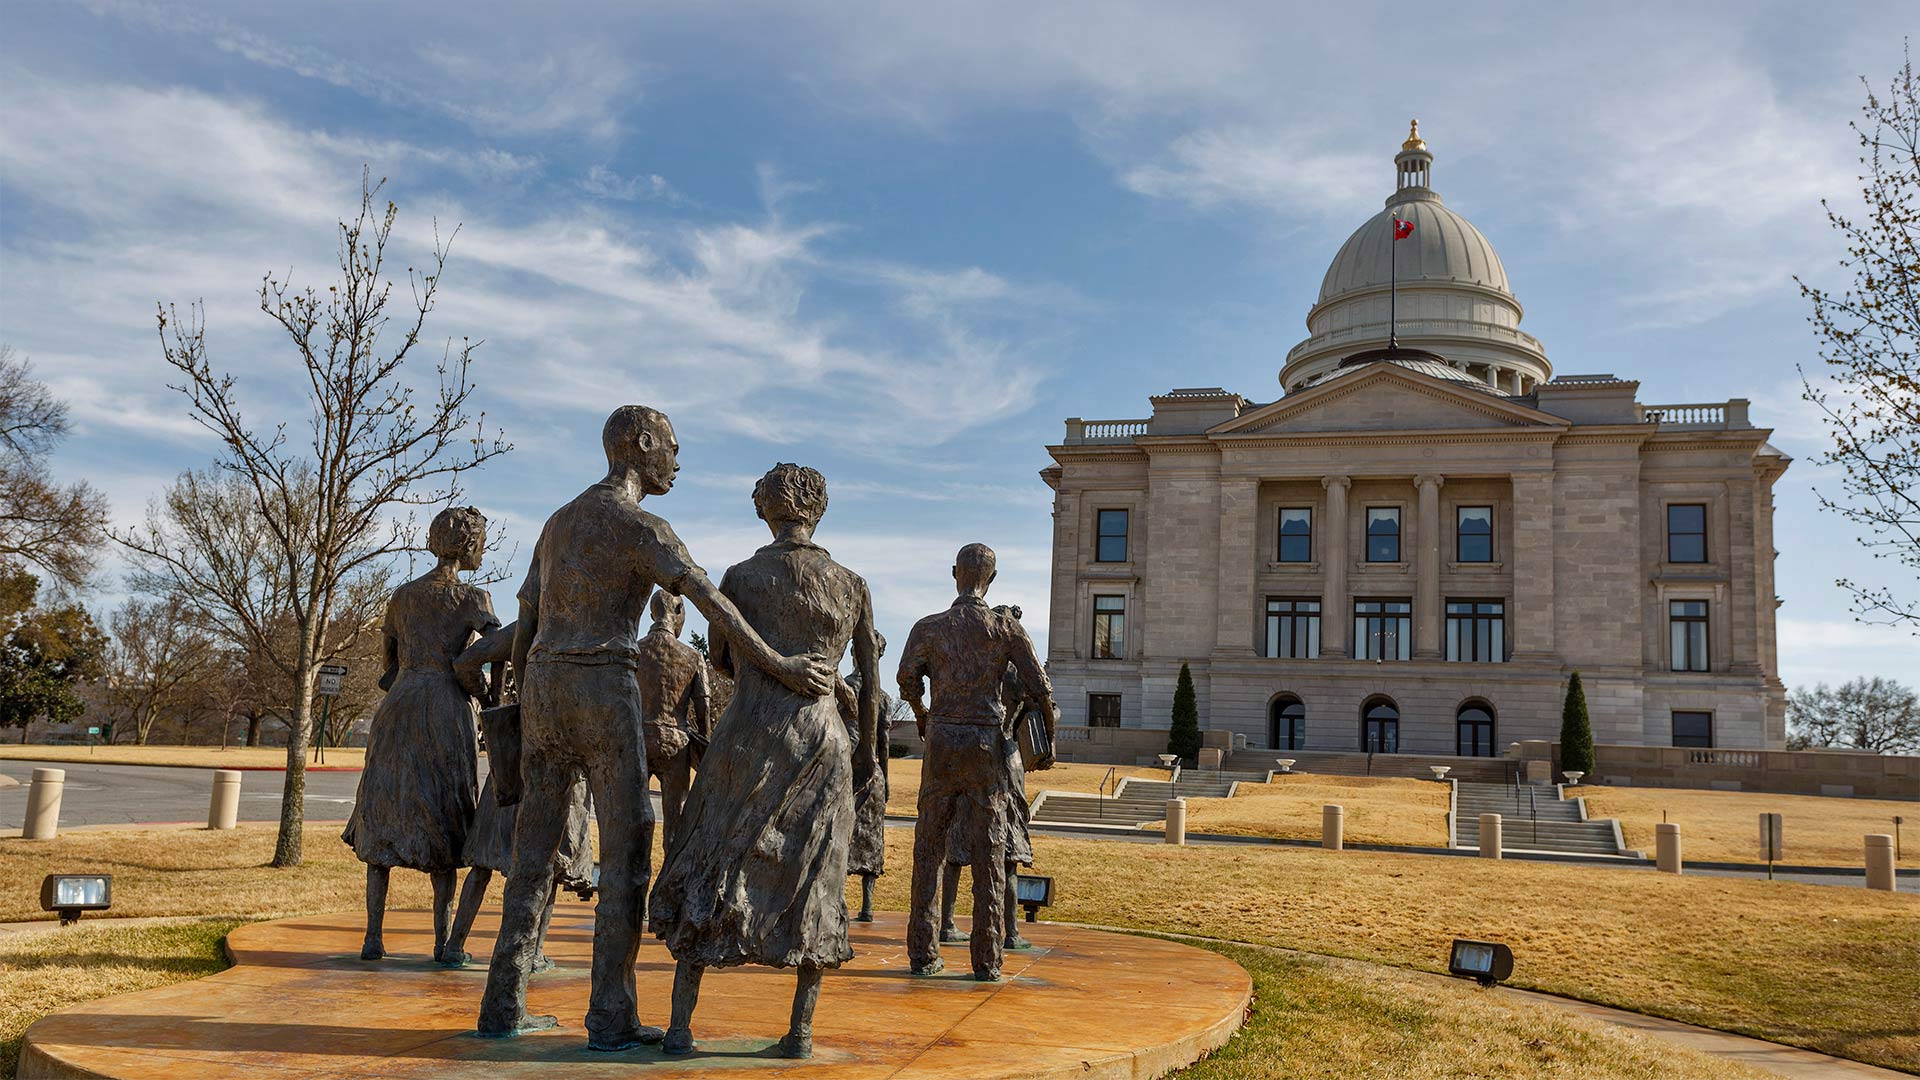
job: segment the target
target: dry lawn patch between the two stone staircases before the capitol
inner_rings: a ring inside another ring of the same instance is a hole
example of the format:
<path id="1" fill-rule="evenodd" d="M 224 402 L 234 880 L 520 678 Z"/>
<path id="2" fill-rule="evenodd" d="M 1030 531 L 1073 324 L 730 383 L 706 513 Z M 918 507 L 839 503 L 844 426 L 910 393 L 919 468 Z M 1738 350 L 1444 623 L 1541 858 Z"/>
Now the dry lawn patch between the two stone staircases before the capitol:
<path id="1" fill-rule="evenodd" d="M 1319 840 L 1327 803 L 1346 807 L 1354 844 L 1446 847 L 1446 786 L 1384 776 L 1288 774 L 1240 784 L 1231 799 L 1187 799 L 1187 832 Z"/>

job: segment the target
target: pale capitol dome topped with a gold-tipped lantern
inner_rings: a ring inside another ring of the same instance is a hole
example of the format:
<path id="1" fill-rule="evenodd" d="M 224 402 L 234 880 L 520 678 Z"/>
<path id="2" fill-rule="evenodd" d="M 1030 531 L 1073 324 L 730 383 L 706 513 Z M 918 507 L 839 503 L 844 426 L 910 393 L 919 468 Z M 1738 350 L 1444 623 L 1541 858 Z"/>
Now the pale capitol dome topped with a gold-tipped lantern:
<path id="1" fill-rule="evenodd" d="M 1394 165 L 1398 188 L 1327 267 L 1309 336 L 1286 354 L 1281 384 L 1300 390 L 1344 357 L 1390 342 L 1440 354 L 1507 394 L 1551 379 L 1546 350 L 1521 331 L 1521 302 L 1494 246 L 1432 190 L 1432 154 L 1417 129 Z M 1398 242 L 1396 219 L 1413 225 Z"/>

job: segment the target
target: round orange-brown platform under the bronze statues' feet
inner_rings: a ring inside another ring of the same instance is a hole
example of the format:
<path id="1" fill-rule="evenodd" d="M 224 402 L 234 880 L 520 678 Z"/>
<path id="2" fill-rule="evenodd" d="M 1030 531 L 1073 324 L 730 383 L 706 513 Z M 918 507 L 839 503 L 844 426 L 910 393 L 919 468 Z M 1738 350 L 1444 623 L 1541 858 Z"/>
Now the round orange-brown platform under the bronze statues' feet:
<path id="1" fill-rule="evenodd" d="M 482 913 L 468 947 L 484 957 L 499 909 Z M 793 972 L 710 970 L 691 1057 L 586 1049 L 593 911 L 564 903 L 534 976 L 530 1013 L 561 1030 L 518 1040 L 472 1034 L 484 959 L 432 965 L 424 911 L 388 917 L 386 961 L 359 959 L 361 919 L 324 915 L 242 926 L 234 967 L 198 980 L 92 1001 L 27 1030 L 23 1078 L 659 1078 L 831 1076 L 989 1080 L 998 1076 L 1146 1078 L 1217 1047 L 1240 1026 L 1252 980 L 1233 961 L 1173 942 L 1027 926 L 1035 949 L 1010 953 L 998 984 L 906 972 L 906 920 L 854 922 L 854 961 L 831 970 L 814 1015 L 814 1057 L 785 1061 Z M 948 945 L 966 970 L 966 945 Z M 639 949 L 641 1020 L 660 1024 L 674 965 L 651 938 Z"/>

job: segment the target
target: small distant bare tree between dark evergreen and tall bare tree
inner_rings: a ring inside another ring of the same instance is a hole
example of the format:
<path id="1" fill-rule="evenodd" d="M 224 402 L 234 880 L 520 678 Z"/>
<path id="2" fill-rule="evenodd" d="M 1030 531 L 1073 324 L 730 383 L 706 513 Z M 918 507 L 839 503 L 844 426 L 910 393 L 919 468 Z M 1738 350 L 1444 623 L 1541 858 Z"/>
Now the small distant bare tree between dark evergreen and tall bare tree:
<path id="1" fill-rule="evenodd" d="M 204 707 L 194 696 L 219 657 L 182 598 L 129 600 L 113 613 L 108 632 L 113 638 L 108 701 L 127 719 L 136 746 L 146 746 L 161 717 Z"/>

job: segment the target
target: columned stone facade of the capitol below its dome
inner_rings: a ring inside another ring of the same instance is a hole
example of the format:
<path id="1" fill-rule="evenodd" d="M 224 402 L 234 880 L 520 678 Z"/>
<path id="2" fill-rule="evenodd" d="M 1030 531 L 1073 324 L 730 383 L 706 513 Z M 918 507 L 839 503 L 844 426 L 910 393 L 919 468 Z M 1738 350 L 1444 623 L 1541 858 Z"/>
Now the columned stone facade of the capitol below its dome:
<path id="1" fill-rule="evenodd" d="M 1680 709 L 1713 713 L 1715 746 L 1782 746 L 1772 484 L 1788 459 L 1745 402 L 1674 423 L 1636 388 L 1582 377 L 1507 398 L 1373 363 L 1269 405 L 1177 390 L 1117 432 L 1069 421 L 1043 473 L 1062 723 L 1092 723 L 1089 694 L 1117 694 L 1121 726 L 1165 728 L 1187 663 L 1204 726 L 1250 746 L 1273 744 L 1269 707 L 1290 694 L 1300 749 L 1361 748 L 1361 707 L 1382 698 L 1404 753 L 1453 753 L 1467 703 L 1494 715 L 1498 753 L 1557 738 L 1580 671 L 1596 742 L 1670 746 Z M 1667 561 L 1668 503 L 1707 507 L 1705 561 Z M 1463 505 L 1492 507 L 1490 561 L 1455 559 Z M 1308 561 L 1279 561 L 1281 507 L 1311 509 Z M 1367 561 L 1369 507 L 1400 511 L 1400 559 Z M 1098 513 L 1114 509 L 1125 557 L 1100 561 Z M 1121 601 L 1116 657 L 1092 655 L 1096 596 Z M 1319 600 L 1317 657 L 1267 655 L 1267 598 Z M 1367 598 L 1411 601 L 1407 659 L 1352 659 Z M 1498 661 L 1446 659 L 1444 605 L 1463 600 L 1503 607 Z M 1707 601 L 1709 671 L 1668 671 L 1670 600 Z"/>

